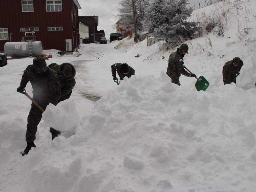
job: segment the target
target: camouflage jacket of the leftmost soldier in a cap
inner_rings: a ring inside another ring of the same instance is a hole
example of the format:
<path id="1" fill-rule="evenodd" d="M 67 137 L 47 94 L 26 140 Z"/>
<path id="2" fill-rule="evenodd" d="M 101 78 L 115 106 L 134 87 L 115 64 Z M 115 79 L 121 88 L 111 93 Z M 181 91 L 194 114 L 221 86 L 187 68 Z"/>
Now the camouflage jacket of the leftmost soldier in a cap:
<path id="1" fill-rule="evenodd" d="M 44 74 L 37 74 L 33 65 L 28 65 L 23 72 L 20 85 L 26 87 L 28 81 L 33 88 L 34 100 L 47 100 L 57 105 L 60 98 L 60 80 L 54 70 L 47 68 Z"/>

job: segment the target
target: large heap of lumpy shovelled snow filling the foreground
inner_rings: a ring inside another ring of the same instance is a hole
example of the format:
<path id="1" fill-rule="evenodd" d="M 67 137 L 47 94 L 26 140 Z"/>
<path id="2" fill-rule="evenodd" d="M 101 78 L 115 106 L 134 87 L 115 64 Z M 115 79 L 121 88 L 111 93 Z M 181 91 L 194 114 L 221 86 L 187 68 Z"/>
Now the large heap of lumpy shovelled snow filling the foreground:
<path id="1" fill-rule="evenodd" d="M 197 92 L 170 84 L 164 72 L 124 79 L 70 139 L 24 158 L 24 170 L 38 161 L 29 165 L 27 190 L 252 191 L 254 94 L 235 84 Z"/>

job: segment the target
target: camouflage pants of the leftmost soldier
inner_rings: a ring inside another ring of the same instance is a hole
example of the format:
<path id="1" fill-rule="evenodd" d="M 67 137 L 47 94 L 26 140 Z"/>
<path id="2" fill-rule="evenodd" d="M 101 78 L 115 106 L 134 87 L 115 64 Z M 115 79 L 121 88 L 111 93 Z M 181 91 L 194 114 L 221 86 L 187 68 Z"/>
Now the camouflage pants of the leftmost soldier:
<path id="1" fill-rule="evenodd" d="M 48 101 L 36 101 L 43 109 L 47 107 L 49 104 Z M 26 132 L 26 141 L 33 142 L 36 140 L 36 131 L 37 125 L 41 121 L 43 112 L 36 107 L 33 103 L 31 105 L 29 114 L 28 114 L 28 124 L 27 124 L 27 132 Z"/>

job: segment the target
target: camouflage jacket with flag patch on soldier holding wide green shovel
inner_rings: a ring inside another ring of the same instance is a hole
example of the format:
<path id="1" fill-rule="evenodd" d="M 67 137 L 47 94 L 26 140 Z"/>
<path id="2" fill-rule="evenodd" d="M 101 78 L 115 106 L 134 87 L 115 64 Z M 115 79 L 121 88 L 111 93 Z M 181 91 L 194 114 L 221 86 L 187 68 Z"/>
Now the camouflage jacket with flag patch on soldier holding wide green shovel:
<path id="1" fill-rule="evenodd" d="M 179 49 L 177 49 L 176 52 L 172 52 L 170 54 L 166 74 L 169 77 L 180 77 L 180 74 L 185 75 L 187 77 L 190 76 L 190 73 L 188 73 L 188 71 L 184 69 L 184 61 L 182 55 L 180 55 L 179 53 Z"/>

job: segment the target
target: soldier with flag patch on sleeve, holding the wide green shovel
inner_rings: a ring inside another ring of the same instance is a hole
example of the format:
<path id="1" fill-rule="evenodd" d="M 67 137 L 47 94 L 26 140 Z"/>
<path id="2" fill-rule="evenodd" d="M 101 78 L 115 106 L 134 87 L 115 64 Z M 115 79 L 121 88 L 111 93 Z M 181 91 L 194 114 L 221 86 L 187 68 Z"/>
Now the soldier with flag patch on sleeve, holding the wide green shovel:
<path id="1" fill-rule="evenodd" d="M 168 60 L 168 67 L 166 74 L 171 77 L 172 83 L 177 84 L 180 86 L 180 74 L 187 76 L 187 77 L 196 77 L 193 73 L 188 73 L 184 69 L 184 61 L 183 57 L 185 54 L 188 53 L 188 45 L 187 44 L 181 44 L 180 48 L 177 49 L 176 52 L 173 52 L 170 54 L 169 60 Z"/>

